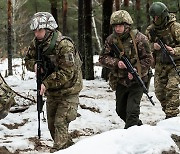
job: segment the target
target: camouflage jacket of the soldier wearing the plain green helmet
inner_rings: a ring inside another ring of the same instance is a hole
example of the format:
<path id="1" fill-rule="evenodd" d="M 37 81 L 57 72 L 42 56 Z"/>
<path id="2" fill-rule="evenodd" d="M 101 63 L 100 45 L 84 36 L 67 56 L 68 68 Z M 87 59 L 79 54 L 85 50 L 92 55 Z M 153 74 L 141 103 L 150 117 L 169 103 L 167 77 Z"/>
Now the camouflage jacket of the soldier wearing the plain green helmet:
<path id="1" fill-rule="evenodd" d="M 154 30 L 157 36 L 151 36 L 150 31 Z M 156 38 L 160 38 L 164 44 L 172 47 L 175 54 L 172 55 L 175 63 L 180 65 L 180 23 L 176 22 L 176 17 L 174 14 L 170 14 L 168 23 L 163 28 L 158 28 L 154 24 L 148 26 L 146 30 L 146 35 L 148 36 L 153 56 L 155 58 L 156 64 L 170 64 L 168 59 L 163 57 L 161 51 L 156 51 L 153 47 L 153 43 L 156 42 Z"/>

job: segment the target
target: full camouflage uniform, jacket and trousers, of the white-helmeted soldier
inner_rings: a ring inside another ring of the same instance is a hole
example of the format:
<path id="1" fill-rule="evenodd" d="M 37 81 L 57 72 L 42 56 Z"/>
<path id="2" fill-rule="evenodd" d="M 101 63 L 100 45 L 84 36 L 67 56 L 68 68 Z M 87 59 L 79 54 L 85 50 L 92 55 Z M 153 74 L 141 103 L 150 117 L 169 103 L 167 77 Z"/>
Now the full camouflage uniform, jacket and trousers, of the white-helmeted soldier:
<path id="1" fill-rule="evenodd" d="M 47 52 L 54 33 L 58 34 L 55 47 L 51 52 Z M 25 57 L 26 67 L 30 71 L 34 71 L 36 63 L 36 44 L 37 40 L 34 39 Z M 53 152 L 72 144 L 68 127 L 77 116 L 79 92 L 82 89 L 81 60 L 73 42 L 57 30 L 51 30 L 48 38 L 40 44 L 42 57 L 46 59 L 43 61 L 43 69 L 46 70 L 48 63 L 54 66 L 42 81 L 46 87 L 47 119 L 54 140 L 51 149 Z"/>

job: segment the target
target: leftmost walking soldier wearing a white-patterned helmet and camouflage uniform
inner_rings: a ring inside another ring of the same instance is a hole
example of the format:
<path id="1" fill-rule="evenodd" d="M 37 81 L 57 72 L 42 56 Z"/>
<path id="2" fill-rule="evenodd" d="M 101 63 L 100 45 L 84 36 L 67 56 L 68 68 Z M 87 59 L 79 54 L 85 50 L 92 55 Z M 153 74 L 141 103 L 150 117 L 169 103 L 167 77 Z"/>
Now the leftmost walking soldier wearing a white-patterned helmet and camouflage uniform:
<path id="1" fill-rule="evenodd" d="M 45 74 L 40 94 L 47 97 L 48 128 L 54 145 L 50 152 L 72 145 L 69 123 L 76 119 L 79 92 L 82 89 L 81 59 L 74 43 L 56 30 L 54 17 L 48 12 L 34 14 L 30 28 L 35 38 L 29 46 L 25 65 L 37 71 L 37 48 L 42 56 Z"/>

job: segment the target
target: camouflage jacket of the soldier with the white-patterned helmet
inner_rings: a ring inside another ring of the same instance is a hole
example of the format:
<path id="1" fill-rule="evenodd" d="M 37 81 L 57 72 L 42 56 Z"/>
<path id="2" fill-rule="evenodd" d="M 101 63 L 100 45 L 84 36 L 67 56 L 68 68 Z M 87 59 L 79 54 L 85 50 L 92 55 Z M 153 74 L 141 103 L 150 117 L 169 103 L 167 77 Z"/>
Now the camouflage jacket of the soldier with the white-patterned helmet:
<path id="1" fill-rule="evenodd" d="M 53 37 L 53 33 L 48 39 L 41 43 L 42 57 L 44 63 L 53 64 L 48 76 L 43 79 L 46 87 L 46 95 L 61 96 L 67 94 L 77 94 L 82 89 L 81 59 L 78 51 L 70 39 L 56 31 L 58 36 L 53 50 L 48 53 L 47 49 Z M 29 46 L 25 57 L 25 65 L 28 70 L 34 71 L 37 60 L 36 39 Z M 44 64 L 43 63 L 43 64 Z M 46 67 L 46 65 L 43 65 Z M 46 68 L 43 68 L 45 70 Z"/>

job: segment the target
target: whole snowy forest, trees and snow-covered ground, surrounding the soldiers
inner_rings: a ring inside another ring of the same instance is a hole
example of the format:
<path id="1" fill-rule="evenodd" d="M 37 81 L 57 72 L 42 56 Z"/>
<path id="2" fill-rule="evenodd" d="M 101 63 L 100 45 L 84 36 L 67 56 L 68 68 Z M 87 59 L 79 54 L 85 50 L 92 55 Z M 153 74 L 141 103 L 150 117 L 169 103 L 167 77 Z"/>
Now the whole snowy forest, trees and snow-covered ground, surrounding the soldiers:
<path id="1" fill-rule="evenodd" d="M 148 93 L 155 106 L 143 94 L 143 125 L 124 129 L 125 123 L 116 113 L 115 92 L 107 83 L 108 70 L 98 62 L 105 39 L 112 33 L 111 14 L 127 10 L 133 28 L 144 33 L 152 22 L 149 7 L 157 1 L 166 4 L 180 22 L 180 0 L 0 0 L 0 74 L 16 94 L 16 103 L 0 120 L 0 154 L 49 153 L 53 146 L 46 105 L 41 116 L 37 115 L 37 76 L 24 64 L 34 37 L 30 20 L 36 12 L 52 13 L 58 30 L 73 39 L 83 60 L 78 116 L 69 127 L 75 144 L 58 154 L 180 153 L 180 114 L 165 119 L 155 95 L 154 76 Z"/>

